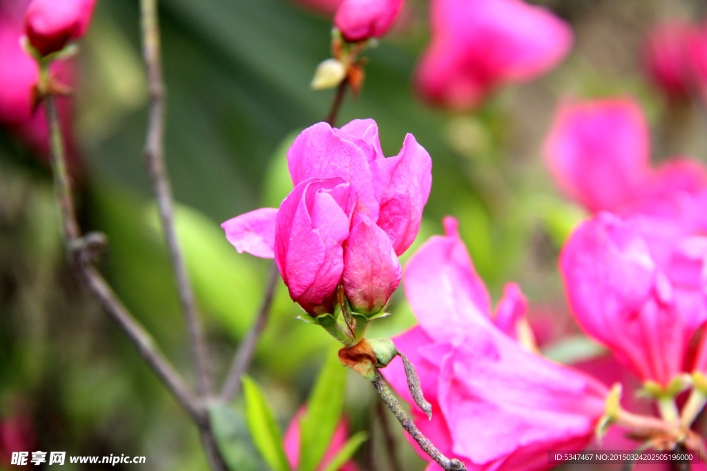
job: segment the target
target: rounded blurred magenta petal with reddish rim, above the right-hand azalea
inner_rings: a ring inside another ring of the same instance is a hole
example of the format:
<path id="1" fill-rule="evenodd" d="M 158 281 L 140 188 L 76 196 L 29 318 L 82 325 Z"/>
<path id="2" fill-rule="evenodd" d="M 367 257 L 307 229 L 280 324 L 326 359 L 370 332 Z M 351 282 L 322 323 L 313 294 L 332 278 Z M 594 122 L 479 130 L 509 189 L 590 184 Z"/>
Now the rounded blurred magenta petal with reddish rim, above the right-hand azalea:
<path id="1" fill-rule="evenodd" d="M 566 103 L 544 157 L 559 186 L 590 211 L 635 198 L 649 178 L 650 138 L 641 108 L 629 99 Z"/>

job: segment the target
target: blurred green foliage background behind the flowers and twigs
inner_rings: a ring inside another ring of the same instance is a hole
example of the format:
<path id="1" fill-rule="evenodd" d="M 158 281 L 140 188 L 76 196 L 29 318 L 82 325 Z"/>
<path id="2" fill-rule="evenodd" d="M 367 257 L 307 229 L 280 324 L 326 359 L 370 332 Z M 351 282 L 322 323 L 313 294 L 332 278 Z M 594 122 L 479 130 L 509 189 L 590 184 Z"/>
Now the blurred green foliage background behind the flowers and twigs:
<path id="1" fill-rule="evenodd" d="M 363 92 L 355 102 L 347 97 L 339 125 L 372 117 L 386 155 L 397 154 L 405 133 L 416 136 L 433 158 L 433 189 L 407 256 L 441 232 L 444 215 L 455 215 L 493 299 L 505 282 L 519 282 L 531 318 L 545 326 L 548 350 L 570 361 L 585 354 L 586 344 L 562 340 L 577 331 L 556 258 L 583 212 L 554 189 L 539 155 L 542 139 L 561 97 L 631 94 L 650 119 L 655 160 L 703 159 L 707 133 L 699 105 L 669 106 L 645 78 L 639 49 L 659 20 L 696 20 L 705 12 L 697 0 L 531 3 L 549 6 L 575 31 L 571 56 L 541 80 L 499 90 L 475 112 L 426 107 L 414 95 L 411 74 L 428 38 L 427 4 L 408 1 L 402 24 L 366 53 Z M 332 98 L 308 87 L 329 56 L 331 23 L 286 0 L 164 1 L 160 21 L 178 230 L 220 382 L 259 307 L 268 264 L 237 254 L 219 225 L 278 205 L 288 192 L 285 150 L 298 131 L 325 117 Z M 78 189 L 83 228 L 107 234 L 110 251 L 101 270 L 189 375 L 185 328 L 141 153 L 147 93 L 136 1 L 98 2 L 78 66 L 74 129 L 88 168 Z M 369 336 L 414 324 L 401 291 L 394 315 L 376 321 Z M 324 330 L 296 321 L 297 314 L 279 286 L 251 369 L 283 428 L 307 397 L 331 342 Z M 358 464 L 385 470 L 373 398 L 366 381 L 349 375 L 350 429 L 372 436 L 356 454 Z M 146 455 L 145 469 L 207 469 L 192 424 L 66 267 L 47 168 L 0 130 L 0 422 L 3 417 L 23 417 L 32 451 Z M 394 428 L 405 469 L 422 470 Z"/>

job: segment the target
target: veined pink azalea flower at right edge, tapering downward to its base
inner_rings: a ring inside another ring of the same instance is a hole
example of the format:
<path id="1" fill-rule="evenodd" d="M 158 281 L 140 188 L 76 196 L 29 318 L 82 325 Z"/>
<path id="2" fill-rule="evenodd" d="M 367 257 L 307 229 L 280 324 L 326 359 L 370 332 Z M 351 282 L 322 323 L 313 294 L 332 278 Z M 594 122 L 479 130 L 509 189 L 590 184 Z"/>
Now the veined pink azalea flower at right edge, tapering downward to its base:
<path id="1" fill-rule="evenodd" d="M 684 371 L 690 339 L 707 320 L 707 195 L 684 196 L 672 217 L 600 213 L 564 247 L 571 311 L 642 380 L 667 386 Z"/>

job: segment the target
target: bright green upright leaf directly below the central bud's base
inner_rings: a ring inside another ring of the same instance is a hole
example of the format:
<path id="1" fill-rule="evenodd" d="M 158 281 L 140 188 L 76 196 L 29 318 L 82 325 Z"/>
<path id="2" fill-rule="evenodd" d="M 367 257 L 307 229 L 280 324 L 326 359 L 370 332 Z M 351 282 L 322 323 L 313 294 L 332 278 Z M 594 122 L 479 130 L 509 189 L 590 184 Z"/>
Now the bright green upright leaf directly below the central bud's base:
<path id="1" fill-rule="evenodd" d="M 344 410 L 348 369 L 339 362 L 337 351 L 338 348 L 332 348 L 327 354 L 307 401 L 307 413 L 300 422 L 299 471 L 314 471 L 322 461 Z"/>

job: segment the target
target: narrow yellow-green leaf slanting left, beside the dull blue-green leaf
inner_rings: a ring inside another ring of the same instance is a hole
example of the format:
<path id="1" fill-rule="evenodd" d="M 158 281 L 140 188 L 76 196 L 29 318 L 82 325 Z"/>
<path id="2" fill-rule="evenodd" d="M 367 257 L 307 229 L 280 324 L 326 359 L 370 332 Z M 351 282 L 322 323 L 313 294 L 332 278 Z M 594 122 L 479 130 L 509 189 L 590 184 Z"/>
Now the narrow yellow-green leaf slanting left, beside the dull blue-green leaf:
<path id="1" fill-rule="evenodd" d="M 272 470 L 290 471 L 274 414 L 262 390 L 248 376 L 243 376 L 243 395 L 245 396 L 245 419 L 260 455 Z"/>

